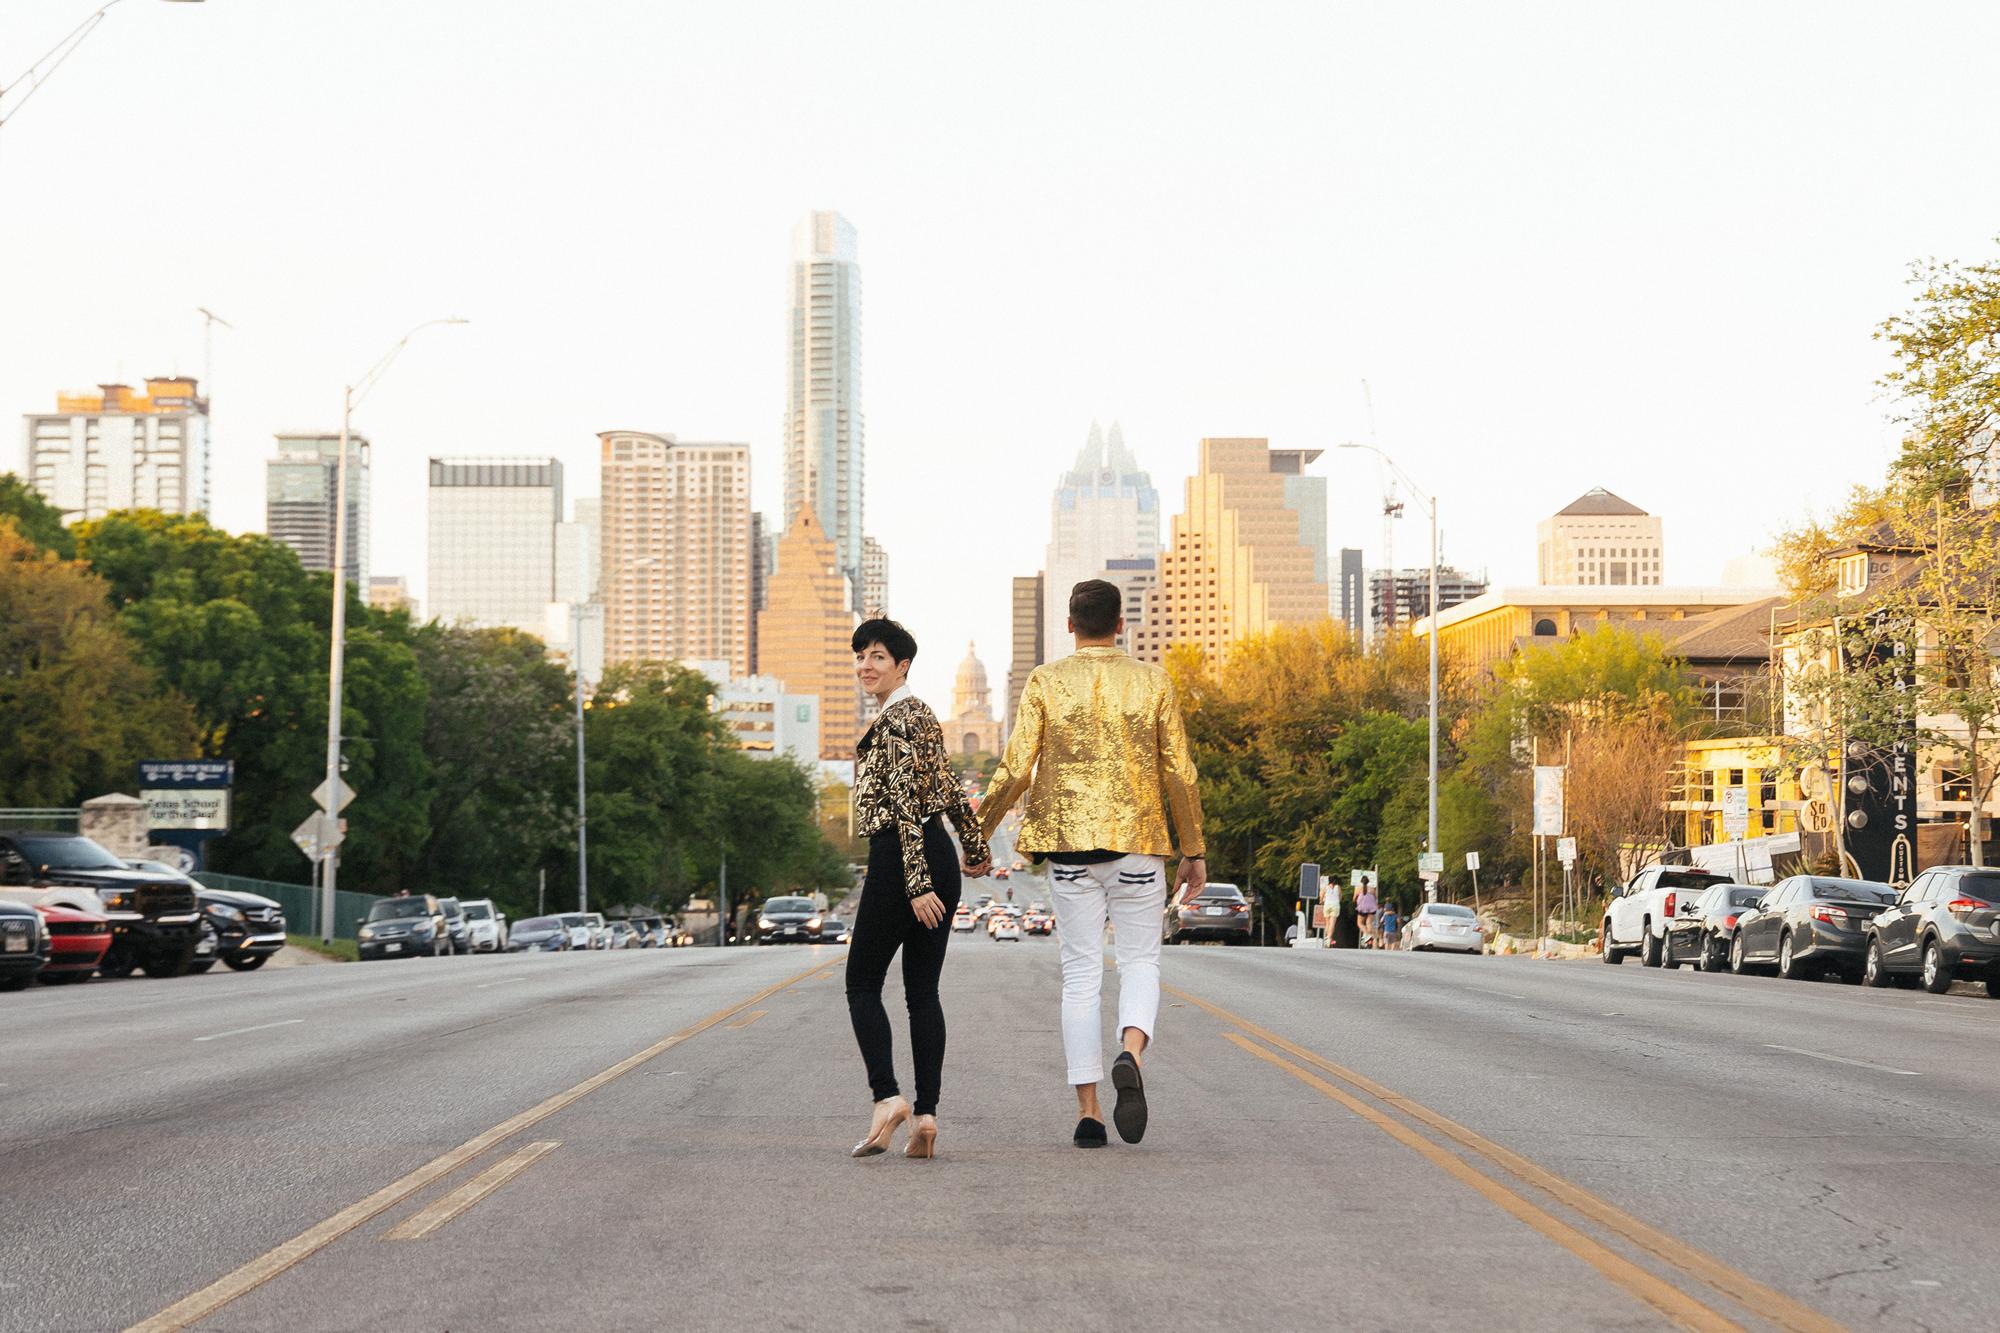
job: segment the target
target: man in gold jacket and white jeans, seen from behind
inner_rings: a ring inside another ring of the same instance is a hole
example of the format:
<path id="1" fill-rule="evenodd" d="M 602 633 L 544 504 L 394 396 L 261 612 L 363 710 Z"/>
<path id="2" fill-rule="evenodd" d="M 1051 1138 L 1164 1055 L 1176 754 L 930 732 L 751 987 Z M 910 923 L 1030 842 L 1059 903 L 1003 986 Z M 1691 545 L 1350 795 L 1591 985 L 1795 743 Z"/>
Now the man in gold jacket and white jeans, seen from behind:
<path id="1" fill-rule="evenodd" d="M 1102 578 L 1070 590 L 1076 652 L 1036 666 L 1020 721 L 980 803 L 992 831 L 1028 797 L 1018 847 L 1050 863 L 1062 953 L 1062 1051 L 1076 1089 L 1076 1147 L 1104 1147 L 1102 1017 L 1104 923 L 1118 959 L 1118 1037 L 1112 1063 L 1118 1137 L 1146 1135 L 1140 1055 L 1160 1013 L 1160 919 L 1166 859 L 1180 849 L 1178 885 L 1192 901 L 1208 885 L 1202 799 L 1166 671 L 1118 646 L 1124 594 Z M 968 867 L 968 875 L 982 871 Z"/>

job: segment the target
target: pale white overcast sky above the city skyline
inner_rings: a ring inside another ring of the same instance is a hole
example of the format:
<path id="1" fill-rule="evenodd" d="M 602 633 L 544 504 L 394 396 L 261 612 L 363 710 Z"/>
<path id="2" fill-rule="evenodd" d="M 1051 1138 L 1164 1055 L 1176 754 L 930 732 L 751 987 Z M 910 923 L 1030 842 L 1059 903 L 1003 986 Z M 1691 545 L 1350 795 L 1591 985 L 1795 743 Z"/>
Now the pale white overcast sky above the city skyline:
<path id="1" fill-rule="evenodd" d="M 12 78 L 90 0 L 0 6 Z M 358 414 L 374 568 L 424 582 L 424 458 L 748 440 L 780 508 L 788 236 L 860 228 L 868 528 L 948 703 L 1118 418 L 1168 512 L 1204 434 L 1374 436 L 1446 558 L 1530 580 L 1592 484 L 1670 582 L 1872 478 L 1872 326 L 2000 234 L 2000 6 L 126 0 L 0 126 L 0 416 L 200 372 L 214 516 Z M 0 466 L 20 466 L 18 426 Z M 1332 544 L 1380 474 L 1328 452 Z M 1424 530 L 1398 532 L 1414 562 Z"/>

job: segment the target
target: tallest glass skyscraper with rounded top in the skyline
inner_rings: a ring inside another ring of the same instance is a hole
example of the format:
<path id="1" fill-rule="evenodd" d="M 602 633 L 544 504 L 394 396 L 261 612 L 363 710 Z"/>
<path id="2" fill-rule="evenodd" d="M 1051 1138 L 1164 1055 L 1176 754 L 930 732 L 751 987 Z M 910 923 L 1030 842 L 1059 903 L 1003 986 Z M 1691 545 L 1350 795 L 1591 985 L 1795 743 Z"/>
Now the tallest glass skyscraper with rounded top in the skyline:
<path id="1" fill-rule="evenodd" d="M 792 228 L 792 358 L 784 414 L 786 522 L 810 504 L 862 594 L 862 268 L 854 224 L 810 212 Z"/>

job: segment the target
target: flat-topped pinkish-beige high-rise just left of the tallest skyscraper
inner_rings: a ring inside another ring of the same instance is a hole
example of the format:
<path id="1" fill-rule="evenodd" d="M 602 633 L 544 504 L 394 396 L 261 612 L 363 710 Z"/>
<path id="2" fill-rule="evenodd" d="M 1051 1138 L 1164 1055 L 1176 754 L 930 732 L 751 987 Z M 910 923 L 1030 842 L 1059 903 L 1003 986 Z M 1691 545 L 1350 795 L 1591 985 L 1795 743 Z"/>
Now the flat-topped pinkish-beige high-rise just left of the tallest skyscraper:
<path id="1" fill-rule="evenodd" d="M 606 662 L 750 675 L 750 446 L 598 434 Z"/>

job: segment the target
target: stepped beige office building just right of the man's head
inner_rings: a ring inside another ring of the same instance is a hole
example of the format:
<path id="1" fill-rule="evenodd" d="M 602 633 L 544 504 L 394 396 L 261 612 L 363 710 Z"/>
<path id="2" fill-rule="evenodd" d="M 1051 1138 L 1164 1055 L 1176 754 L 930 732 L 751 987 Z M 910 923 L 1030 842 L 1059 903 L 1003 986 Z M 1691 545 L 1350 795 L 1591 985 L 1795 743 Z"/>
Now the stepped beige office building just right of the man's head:
<path id="1" fill-rule="evenodd" d="M 1202 440 L 1132 656 L 1160 662 L 1180 642 L 1224 656 L 1238 638 L 1326 618 L 1326 478 L 1306 476 L 1318 456 L 1260 438 Z"/>

